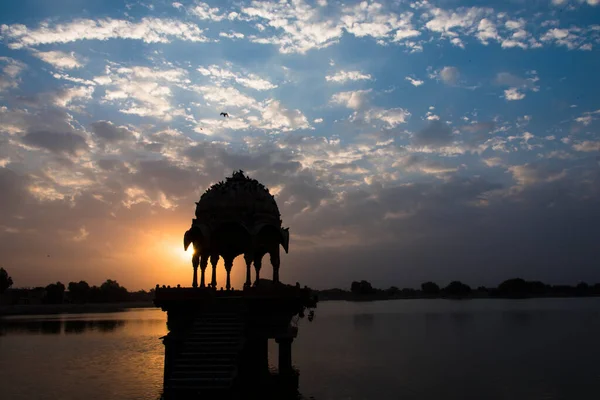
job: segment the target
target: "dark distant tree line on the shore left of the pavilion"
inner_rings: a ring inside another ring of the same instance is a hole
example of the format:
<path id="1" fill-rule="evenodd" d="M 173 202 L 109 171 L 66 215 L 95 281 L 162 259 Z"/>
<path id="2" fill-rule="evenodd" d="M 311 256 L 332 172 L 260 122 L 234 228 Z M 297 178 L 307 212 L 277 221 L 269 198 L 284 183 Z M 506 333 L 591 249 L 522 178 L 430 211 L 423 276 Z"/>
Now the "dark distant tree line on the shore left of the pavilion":
<path id="1" fill-rule="evenodd" d="M 11 289 L 13 280 L 0 268 L 0 296 L 2 304 L 86 304 L 152 301 L 154 288 L 149 291 L 129 292 L 115 280 L 108 279 L 100 286 L 90 286 L 86 281 L 51 283 L 35 288 Z"/>

